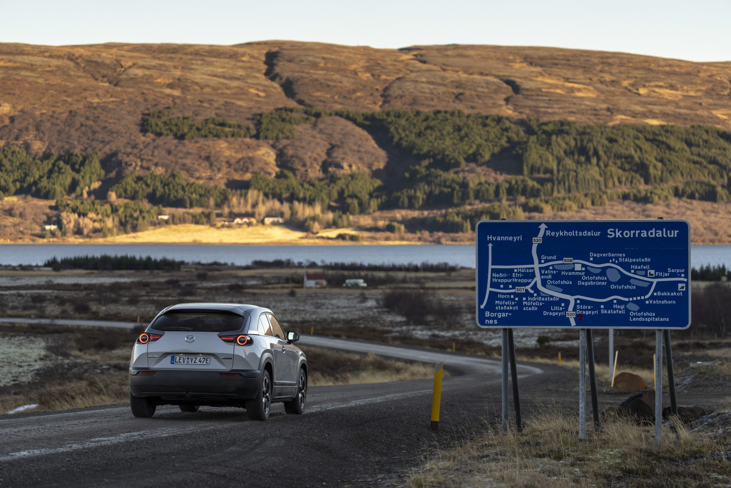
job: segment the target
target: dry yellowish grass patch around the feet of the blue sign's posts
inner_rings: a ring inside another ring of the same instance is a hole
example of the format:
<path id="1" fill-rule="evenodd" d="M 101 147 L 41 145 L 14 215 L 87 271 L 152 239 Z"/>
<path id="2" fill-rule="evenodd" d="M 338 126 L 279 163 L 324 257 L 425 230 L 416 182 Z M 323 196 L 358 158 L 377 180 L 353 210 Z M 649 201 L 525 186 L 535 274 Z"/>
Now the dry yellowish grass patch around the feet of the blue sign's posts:
<path id="1" fill-rule="evenodd" d="M 482 438 L 440 451 L 414 470 L 409 487 L 711 487 L 731 484 L 730 440 L 690 432 L 678 418 L 663 429 L 629 418 L 609 418 L 602 432 L 558 407 L 531 414 L 522 433 L 502 436 L 492 426 Z M 712 481 L 712 482 L 711 482 Z"/>

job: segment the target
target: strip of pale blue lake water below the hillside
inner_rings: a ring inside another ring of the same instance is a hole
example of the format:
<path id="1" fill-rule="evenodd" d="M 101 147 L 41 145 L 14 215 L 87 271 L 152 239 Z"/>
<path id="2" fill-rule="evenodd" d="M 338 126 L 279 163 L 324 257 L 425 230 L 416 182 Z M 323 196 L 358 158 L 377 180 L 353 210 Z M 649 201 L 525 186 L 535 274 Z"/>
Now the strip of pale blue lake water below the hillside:
<path id="1" fill-rule="evenodd" d="M 291 259 L 295 263 L 450 263 L 474 268 L 474 245 L 403 244 L 336 246 L 251 246 L 222 244 L 0 244 L 0 264 L 41 265 L 50 258 L 79 255 L 135 255 L 238 266 L 253 260 Z M 731 267 L 731 246 L 692 246 L 692 265 Z"/>

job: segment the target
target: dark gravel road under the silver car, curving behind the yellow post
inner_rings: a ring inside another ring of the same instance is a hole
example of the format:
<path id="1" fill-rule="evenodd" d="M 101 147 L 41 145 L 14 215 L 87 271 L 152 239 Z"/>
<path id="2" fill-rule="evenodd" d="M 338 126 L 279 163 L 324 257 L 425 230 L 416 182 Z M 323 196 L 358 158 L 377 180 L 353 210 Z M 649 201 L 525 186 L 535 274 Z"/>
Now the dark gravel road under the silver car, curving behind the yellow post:
<path id="1" fill-rule="evenodd" d="M 300 343 L 444 361 L 455 373 L 442 388 L 442 424 L 451 432 L 439 433 L 444 440 L 488 416 L 490 397 L 499 401 L 499 360 L 332 337 Z M 520 364 L 518 372 L 534 378 L 542 369 Z M 420 464 L 433 440 L 431 388 L 431 380 L 311 387 L 303 416 L 276 404 L 266 422 L 237 408 L 183 413 L 173 406 L 153 418 L 133 417 L 128 405 L 0 416 L 0 486 L 378 484 Z"/>

